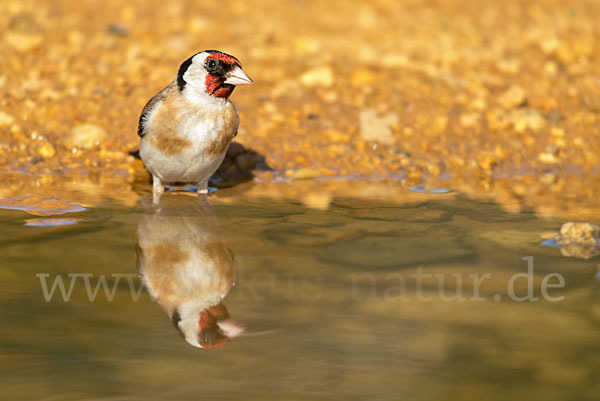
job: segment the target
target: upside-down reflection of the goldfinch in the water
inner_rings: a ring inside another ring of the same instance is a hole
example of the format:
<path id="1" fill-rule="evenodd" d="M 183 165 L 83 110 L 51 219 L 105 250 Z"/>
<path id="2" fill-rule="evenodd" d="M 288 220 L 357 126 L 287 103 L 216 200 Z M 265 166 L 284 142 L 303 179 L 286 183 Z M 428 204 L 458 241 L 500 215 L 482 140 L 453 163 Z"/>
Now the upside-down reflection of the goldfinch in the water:
<path id="1" fill-rule="evenodd" d="M 234 257 L 205 199 L 169 193 L 144 199 L 137 267 L 150 295 L 195 347 L 218 348 L 243 330 L 222 300 L 234 285 Z"/>

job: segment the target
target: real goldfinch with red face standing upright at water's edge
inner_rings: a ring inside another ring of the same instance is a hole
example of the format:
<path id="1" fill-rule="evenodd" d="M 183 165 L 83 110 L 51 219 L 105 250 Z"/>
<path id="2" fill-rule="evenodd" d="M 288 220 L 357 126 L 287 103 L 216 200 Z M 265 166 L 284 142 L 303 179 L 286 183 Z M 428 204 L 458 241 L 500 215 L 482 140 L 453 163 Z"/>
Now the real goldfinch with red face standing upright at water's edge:
<path id="1" fill-rule="evenodd" d="M 208 193 L 208 179 L 240 124 L 229 96 L 246 84 L 254 81 L 237 58 L 204 50 L 181 63 L 173 81 L 146 103 L 138 123 L 140 158 L 152 174 L 155 202 L 170 183 Z"/>

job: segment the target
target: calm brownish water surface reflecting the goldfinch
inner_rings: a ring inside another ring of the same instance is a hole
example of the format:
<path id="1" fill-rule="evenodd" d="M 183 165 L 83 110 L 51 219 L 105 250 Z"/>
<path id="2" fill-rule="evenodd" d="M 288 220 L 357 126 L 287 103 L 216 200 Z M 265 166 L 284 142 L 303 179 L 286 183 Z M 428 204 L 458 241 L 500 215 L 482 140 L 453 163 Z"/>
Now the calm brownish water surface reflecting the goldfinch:
<path id="1" fill-rule="evenodd" d="M 559 220 L 443 195 L 142 198 L 70 225 L 0 210 L 3 398 L 597 399 L 598 261 L 541 245 Z M 517 299 L 528 277 L 509 285 L 528 268 L 537 301 Z M 46 302 L 42 281 L 69 274 L 70 300 Z M 86 277 L 117 282 L 112 301 Z M 134 300 L 139 277 L 154 297 Z"/>

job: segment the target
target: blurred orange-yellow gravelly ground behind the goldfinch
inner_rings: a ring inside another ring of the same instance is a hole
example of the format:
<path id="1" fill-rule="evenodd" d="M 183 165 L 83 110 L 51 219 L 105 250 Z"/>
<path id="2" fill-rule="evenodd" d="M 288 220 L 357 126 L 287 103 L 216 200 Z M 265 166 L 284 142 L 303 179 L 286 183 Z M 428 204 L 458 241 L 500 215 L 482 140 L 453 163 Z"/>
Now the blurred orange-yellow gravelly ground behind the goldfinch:
<path id="1" fill-rule="evenodd" d="M 351 178 L 402 201 L 400 180 L 597 216 L 600 1 L 569 3 L 1 0 L 0 196 L 68 183 L 87 204 L 135 202 L 143 105 L 219 49 L 256 81 L 232 96 L 237 140 L 272 168 L 249 194 L 323 205 Z"/>

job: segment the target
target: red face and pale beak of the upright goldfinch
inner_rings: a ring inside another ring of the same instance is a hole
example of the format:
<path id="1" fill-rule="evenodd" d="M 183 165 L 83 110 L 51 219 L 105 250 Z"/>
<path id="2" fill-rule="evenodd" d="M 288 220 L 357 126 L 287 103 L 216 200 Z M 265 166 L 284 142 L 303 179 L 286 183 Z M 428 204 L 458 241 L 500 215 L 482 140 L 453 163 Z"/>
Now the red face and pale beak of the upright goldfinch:
<path id="1" fill-rule="evenodd" d="M 204 60 L 206 92 L 214 97 L 227 98 L 236 85 L 254 82 L 242 71 L 240 61 L 221 52 L 211 52 Z"/>

